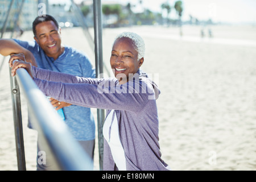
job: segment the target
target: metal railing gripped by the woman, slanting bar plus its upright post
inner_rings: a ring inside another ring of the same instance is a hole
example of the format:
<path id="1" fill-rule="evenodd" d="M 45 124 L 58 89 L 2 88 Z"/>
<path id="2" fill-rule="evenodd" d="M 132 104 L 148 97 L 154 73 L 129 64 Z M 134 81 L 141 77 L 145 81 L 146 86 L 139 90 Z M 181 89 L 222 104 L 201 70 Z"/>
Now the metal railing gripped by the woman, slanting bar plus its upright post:
<path id="1" fill-rule="evenodd" d="M 58 169 L 68 171 L 92 170 L 90 166 L 92 159 L 73 138 L 68 126 L 61 120 L 46 96 L 39 90 L 24 68 L 17 69 L 16 76 L 11 78 L 18 169 L 20 171 L 26 170 L 19 86 L 27 100 L 31 123 L 46 145 L 47 151 L 44 152 L 53 154 Z"/>

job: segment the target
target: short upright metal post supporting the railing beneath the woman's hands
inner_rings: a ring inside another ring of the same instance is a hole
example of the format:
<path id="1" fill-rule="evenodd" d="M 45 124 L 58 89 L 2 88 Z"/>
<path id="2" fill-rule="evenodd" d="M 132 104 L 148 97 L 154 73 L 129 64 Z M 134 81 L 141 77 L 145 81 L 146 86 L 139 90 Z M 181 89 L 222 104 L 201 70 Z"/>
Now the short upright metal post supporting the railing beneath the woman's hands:
<path id="1" fill-rule="evenodd" d="M 22 129 L 22 114 L 20 106 L 20 92 L 16 77 L 11 76 L 10 69 L 10 82 L 11 82 L 11 98 L 13 101 L 13 119 L 14 119 L 14 132 L 16 141 L 16 154 L 18 162 L 18 170 L 26 171 L 26 160 L 23 142 L 23 129 Z"/>

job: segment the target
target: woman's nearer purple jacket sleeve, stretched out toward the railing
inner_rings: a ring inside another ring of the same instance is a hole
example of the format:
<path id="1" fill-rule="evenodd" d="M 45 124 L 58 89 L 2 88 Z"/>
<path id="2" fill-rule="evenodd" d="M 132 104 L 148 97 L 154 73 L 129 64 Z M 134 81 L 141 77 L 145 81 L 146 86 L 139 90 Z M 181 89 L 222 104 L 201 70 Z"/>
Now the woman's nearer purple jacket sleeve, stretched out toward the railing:
<path id="1" fill-rule="evenodd" d="M 63 75 L 61 74 L 61 76 Z M 122 88 L 122 90 L 111 78 L 101 78 L 98 84 L 90 84 L 88 81 L 83 84 L 71 84 L 38 78 L 34 78 L 34 81 L 47 96 L 85 107 L 128 110 L 137 113 L 148 102 L 148 94 L 143 90 L 135 92 L 136 90 L 133 90 L 133 87 L 129 88 L 130 90 L 125 88 Z M 140 85 L 135 86 L 139 88 Z"/>

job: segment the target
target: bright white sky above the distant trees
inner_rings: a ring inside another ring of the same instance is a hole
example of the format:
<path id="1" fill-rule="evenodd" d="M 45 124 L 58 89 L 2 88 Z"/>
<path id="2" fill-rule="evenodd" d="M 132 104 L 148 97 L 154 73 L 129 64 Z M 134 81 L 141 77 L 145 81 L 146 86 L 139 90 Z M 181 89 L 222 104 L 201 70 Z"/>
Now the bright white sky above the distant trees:
<path id="1" fill-rule="evenodd" d="M 50 1 L 69 1 L 69 0 L 50 0 Z M 81 2 L 81 0 L 74 0 Z M 92 0 L 88 0 L 92 1 Z M 160 6 L 162 3 L 168 2 L 174 6 L 176 0 L 142 0 L 142 5 L 139 5 L 139 0 L 101 0 L 101 2 L 119 2 L 126 5 L 128 2 L 131 5 L 136 5 L 133 11 L 143 11 L 150 9 L 155 12 L 162 12 Z M 182 20 L 189 20 L 189 15 L 199 19 L 212 19 L 213 22 L 227 23 L 256 23 L 256 0 L 182 0 L 183 16 Z M 166 12 L 163 12 L 163 16 Z M 170 18 L 176 18 L 175 9 L 172 9 Z"/>

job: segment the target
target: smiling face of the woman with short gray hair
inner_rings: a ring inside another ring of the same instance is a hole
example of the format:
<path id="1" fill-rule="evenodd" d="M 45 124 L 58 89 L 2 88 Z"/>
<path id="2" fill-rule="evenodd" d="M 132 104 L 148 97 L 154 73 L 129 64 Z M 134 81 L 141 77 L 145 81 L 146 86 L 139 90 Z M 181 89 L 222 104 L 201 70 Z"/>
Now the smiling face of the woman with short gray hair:
<path id="1" fill-rule="evenodd" d="M 115 78 L 119 84 L 125 84 L 129 77 L 137 73 L 144 59 L 138 60 L 138 52 L 129 38 L 119 38 L 115 40 L 110 57 L 110 65 Z"/>

